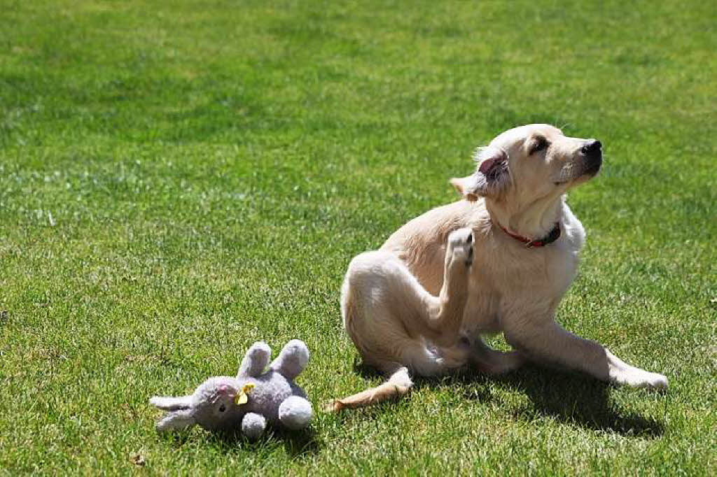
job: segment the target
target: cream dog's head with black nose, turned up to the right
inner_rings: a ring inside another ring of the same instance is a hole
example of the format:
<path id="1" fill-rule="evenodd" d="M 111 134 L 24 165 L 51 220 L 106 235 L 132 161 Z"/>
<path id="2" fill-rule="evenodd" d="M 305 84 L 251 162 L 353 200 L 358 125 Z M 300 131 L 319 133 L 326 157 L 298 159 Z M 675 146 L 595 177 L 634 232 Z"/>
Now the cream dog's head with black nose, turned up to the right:
<path id="1" fill-rule="evenodd" d="M 531 124 L 501 133 L 474 156 L 475 173 L 451 179 L 469 201 L 478 196 L 526 203 L 559 197 L 594 177 L 602 164 L 599 140 L 568 138 L 557 127 Z"/>

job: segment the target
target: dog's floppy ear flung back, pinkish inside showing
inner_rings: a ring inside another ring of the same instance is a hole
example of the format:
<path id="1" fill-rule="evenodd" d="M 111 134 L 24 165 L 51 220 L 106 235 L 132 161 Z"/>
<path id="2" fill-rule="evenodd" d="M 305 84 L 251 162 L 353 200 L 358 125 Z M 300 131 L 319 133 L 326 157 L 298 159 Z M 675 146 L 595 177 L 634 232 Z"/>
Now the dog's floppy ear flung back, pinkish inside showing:
<path id="1" fill-rule="evenodd" d="M 473 175 L 450 180 L 458 193 L 468 201 L 475 201 L 478 196 L 497 197 L 511 183 L 508 153 L 505 150 L 493 146 L 478 148 L 473 160 L 478 163 Z"/>

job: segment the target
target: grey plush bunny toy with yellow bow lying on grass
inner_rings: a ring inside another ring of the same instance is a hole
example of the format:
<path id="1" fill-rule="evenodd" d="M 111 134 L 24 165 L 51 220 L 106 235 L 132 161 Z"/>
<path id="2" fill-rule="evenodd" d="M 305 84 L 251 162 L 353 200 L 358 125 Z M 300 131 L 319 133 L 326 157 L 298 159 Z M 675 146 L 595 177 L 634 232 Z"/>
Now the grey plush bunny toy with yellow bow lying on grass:
<path id="1" fill-rule="evenodd" d="M 244 355 L 236 378 L 210 377 L 193 394 L 181 397 L 152 397 L 149 402 L 168 411 L 157 430 L 199 424 L 206 430 L 229 430 L 241 426 L 250 439 L 258 438 L 267 423 L 293 430 L 305 428 L 312 417 L 305 392 L 293 380 L 309 360 L 306 344 L 288 342 L 264 372 L 271 350 L 256 342 Z"/>

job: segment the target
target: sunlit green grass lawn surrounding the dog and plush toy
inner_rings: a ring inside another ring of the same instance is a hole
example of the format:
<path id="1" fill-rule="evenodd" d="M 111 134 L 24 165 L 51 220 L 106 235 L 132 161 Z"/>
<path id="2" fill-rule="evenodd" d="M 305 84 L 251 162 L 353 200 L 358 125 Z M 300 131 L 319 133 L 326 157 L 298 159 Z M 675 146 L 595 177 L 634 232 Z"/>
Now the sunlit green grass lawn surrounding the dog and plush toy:
<path id="1" fill-rule="evenodd" d="M 0 11 L 0 473 L 714 475 L 711 2 Z M 341 327 L 348 261 L 528 122 L 604 145 L 559 321 L 668 392 L 526 366 L 258 443 L 156 434 L 148 397 L 258 339 L 307 342 L 317 408 L 380 382 Z"/>

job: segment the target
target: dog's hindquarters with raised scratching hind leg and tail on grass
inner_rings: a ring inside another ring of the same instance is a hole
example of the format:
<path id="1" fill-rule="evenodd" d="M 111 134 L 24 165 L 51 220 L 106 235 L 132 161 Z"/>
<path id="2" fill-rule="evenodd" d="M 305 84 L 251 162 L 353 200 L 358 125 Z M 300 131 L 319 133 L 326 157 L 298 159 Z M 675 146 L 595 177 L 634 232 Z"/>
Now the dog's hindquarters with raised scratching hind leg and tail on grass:
<path id="1" fill-rule="evenodd" d="M 460 327 L 472 263 L 470 228 L 448 237 L 438 297 L 429 294 L 394 254 L 367 252 L 351 261 L 341 291 L 344 325 L 364 361 L 389 380 L 333 400 L 327 410 L 359 408 L 404 395 L 413 384 L 409 369 L 433 376 L 465 365 L 470 350 L 460 342 Z"/>

